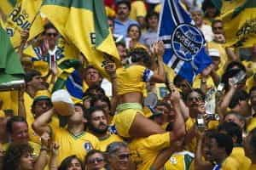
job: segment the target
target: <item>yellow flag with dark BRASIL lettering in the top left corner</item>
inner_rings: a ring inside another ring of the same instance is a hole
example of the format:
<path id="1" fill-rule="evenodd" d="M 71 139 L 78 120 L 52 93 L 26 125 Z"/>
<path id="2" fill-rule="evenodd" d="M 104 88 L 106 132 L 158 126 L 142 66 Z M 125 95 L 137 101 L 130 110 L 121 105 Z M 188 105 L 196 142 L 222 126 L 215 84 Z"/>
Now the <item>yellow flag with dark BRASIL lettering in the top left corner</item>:
<path id="1" fill-rule="evenodd" d="M 20 0 L 11 10 L 5 23 L 5 29 L 14 47 L 20 46 L 20 32 L 29 30 L 29 38 L 36 37 L 44 31 L 44 21 L 38 11 L 42 0 Z"/>

